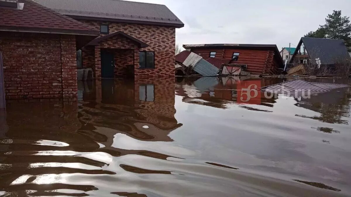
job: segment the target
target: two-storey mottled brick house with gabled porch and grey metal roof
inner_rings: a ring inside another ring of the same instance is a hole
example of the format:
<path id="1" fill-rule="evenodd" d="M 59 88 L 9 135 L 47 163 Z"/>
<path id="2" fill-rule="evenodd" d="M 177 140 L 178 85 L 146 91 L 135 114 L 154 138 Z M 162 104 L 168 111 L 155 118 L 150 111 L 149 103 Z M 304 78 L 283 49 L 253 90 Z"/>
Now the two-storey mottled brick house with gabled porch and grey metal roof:
<path id="1" fill-rule="evenodd" d="M 184 24 L 165 5 L 121 0 L 36 1 L 100 29 L 100 37 L 81 50 L 81 68 L 92 68 L 94 77 L 174 76 L 176 28 Z"/>

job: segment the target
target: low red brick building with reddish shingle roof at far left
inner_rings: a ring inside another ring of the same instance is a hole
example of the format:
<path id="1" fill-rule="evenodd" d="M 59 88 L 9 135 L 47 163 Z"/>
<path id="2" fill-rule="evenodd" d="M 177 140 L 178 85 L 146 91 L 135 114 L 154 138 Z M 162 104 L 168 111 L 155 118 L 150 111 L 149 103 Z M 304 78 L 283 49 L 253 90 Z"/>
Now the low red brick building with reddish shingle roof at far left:
<path id="1" fill-rule="evenodd" d="M 31 0 L 1 0 L 6 99 L 76 99 L 76 51 L 98 35 L 93 27 Z"/>

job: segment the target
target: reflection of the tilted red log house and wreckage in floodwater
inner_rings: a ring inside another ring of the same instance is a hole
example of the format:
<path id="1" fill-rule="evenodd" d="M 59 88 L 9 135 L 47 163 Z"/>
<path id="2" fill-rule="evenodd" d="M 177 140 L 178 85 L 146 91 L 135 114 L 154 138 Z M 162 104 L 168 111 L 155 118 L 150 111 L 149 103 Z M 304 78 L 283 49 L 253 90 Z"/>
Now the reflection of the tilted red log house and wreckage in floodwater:
<path id="1" fill-rule="evenodd" d="M 226 104 L 237 103 L 238 86 L 244 81 L 261 83 L 267 86 L 279 82 L 280 79 L 250 79 L 249 77 L 201 77 L 199 79 L 183 79 L 176 84 L 176 94 L 183 96 L 183 102 L 201 104 L 216 108 L 226 108 Z M 266 99 L 261 96 L 260 105 L 273 107 L 274 97 Z M 246 108 L 252 109 L 254 108 Z"/>

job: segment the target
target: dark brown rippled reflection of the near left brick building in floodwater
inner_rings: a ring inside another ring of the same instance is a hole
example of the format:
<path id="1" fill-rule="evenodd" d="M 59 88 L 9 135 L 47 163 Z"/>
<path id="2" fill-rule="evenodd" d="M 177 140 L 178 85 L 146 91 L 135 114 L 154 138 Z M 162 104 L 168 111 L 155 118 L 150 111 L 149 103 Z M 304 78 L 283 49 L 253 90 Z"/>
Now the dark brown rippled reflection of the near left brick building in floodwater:
<path id="1" fill-rule="evenodd" d="M 81 126 L 77 103 L 12 101 L 7 103 L 6 114 L 6 130 L 0 130 L 1 191 L 12 192 L 8 196 L 28 196 L 26 192 L 29 190 L 33 196 L 51 196 L 47 190 L 94 190 L 92 185 L 48 184 L 49 175 L 59 179 L 62 173 L 106 173 L 70 167 L 71 163 L 94 166 L 103 166 L 104 163 L 73 155 L 54 155 L 60 151 L 88 152 L 99 148 L 96 142 L 77 133 Z M 57 192 L 56 195 L 64 194 Z"/>

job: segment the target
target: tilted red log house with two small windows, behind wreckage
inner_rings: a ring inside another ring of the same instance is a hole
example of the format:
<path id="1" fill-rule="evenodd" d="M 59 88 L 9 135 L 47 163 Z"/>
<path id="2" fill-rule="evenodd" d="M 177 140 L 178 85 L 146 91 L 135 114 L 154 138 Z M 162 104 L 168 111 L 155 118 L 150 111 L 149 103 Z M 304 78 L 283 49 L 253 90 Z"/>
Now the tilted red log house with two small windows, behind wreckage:
<path id="1" fill-rule="evenodd" d="M 209 59 L 215 58 L 230 60 L 230 63 L 246 64 L 246 71 L 251 74 L 278 74 L 279 68 L 284 68 L 277 45 L 204 44 L 183 45 L 183 47 L 209 62 L 215 62 Z"/>

